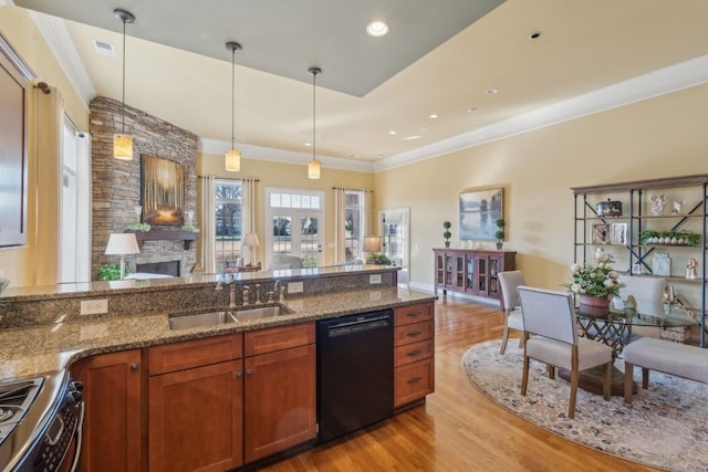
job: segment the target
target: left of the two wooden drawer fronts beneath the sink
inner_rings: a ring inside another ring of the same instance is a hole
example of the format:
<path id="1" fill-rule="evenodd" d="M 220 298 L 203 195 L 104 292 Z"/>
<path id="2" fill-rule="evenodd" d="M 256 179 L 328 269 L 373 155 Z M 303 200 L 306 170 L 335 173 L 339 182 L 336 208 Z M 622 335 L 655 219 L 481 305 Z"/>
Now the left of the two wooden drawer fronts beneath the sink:
<path id="1" fill-rule="evenodd" d="M 149 348 L 149 374 L 173 373 L 243 357 L 243 335 L 214 336 Z"/>

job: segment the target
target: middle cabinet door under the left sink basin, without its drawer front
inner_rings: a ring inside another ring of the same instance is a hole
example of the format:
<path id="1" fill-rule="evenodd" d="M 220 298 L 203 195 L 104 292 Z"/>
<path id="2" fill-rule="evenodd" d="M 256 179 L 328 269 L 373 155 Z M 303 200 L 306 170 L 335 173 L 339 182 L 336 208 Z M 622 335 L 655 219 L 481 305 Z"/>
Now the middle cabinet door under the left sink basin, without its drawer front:
<path id="1" fill-rule="evenodd" d="M 242 360 L 150 377 L 150 471 L 223 471 L 243 463 Z"/>

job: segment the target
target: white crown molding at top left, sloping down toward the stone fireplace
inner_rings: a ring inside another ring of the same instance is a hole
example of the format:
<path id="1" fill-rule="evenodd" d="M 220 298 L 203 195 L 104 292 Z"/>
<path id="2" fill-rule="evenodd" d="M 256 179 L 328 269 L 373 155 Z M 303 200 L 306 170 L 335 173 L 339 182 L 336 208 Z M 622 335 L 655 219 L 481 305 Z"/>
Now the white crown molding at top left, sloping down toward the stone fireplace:
<path id="1" fill-rule="evenodd" d="M 42 36 L 44 36 L 44 41 L 52 50 L 59 65 L 76 91 L 79 98 L 88 109 L 88 104 L 96 96 L 96 88 L 88 78 L 86 67 L 84 67 L 84 63 L 79 56 L 64 20 L 37 11 L 30 11 L 30 17 L 40 33 L 42 33 Z"/>

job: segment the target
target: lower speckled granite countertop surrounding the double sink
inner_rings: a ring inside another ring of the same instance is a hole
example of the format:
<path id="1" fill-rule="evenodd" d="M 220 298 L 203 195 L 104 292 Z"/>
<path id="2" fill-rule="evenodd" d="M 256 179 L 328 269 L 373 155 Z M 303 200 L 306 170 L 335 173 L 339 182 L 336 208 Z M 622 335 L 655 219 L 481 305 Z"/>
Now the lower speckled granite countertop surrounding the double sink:
<path id="1" fill-rule="evenodd" d="M 76 359 L 153 345 L 197 339 L 436 300 L 430 294 L 395 287 L 285 300 L 293 313 L 252 322 L 171 331 L 168 313 L 118 317 L 86 316 L 0 331 L 0 379 L 30 378 L 62 370 Z M 206 311 L 215 310 L 214 307 Z M 221 307 L 220 310 L 225 310 Z"/>

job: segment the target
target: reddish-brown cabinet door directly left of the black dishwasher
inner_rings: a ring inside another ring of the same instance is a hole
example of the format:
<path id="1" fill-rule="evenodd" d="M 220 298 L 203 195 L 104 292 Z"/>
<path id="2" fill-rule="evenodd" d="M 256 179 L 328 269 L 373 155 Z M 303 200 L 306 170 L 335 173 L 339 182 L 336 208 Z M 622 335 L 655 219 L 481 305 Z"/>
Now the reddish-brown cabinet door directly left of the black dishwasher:
<path id="1" fill-rule="evenodd" d="M 246 462 L 315 438 L 315 345 L 244 360 Z"/>

